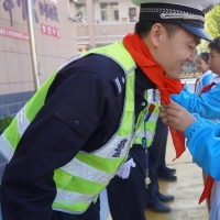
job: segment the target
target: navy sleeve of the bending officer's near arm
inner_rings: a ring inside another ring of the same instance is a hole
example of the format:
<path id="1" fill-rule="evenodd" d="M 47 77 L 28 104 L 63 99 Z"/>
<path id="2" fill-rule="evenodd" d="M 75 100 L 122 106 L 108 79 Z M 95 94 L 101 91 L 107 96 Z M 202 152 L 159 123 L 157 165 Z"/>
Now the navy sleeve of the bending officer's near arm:
<path id="1" fill-rule="evenodd" d="M 51 95 L 4 172 L 2 209 L 9 219 L 52 219 L 54 170 L 70 162 L 110 117 L 113 99 L 109 81 L 94 73 L 69 76 Z"/>

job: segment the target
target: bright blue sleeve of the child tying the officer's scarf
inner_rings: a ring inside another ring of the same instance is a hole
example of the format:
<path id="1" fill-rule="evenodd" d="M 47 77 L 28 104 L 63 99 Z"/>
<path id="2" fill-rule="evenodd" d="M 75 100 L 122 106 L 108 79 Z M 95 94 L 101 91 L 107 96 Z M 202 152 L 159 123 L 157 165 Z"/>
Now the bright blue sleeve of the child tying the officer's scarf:
<path id="1" fill-rule="evenodd" d="M 220 180 L 220 124 L 194 116 L 197 121 L 185 131 L 186 144 L 198 166 Z"/>

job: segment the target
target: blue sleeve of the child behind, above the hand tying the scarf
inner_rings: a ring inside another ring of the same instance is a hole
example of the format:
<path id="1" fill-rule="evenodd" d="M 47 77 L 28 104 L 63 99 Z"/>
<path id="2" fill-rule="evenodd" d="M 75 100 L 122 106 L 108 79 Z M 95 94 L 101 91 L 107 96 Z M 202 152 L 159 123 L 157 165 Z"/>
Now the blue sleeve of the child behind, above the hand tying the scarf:
<path id="1" fill-rule="evenodd" d="M 172 100 L 183 106 L 190 113 L 198 113 L 206 119 L 220 118 L 220 84 L 200 97 L 183 90 L 178 95 L 172 95 Z"/>

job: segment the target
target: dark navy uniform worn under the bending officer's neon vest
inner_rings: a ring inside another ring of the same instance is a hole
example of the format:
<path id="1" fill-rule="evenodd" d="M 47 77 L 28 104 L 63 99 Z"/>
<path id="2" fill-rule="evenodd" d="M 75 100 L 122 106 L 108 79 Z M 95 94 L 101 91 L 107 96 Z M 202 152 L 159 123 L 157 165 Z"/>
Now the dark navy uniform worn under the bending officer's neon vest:
<path id="1" fill-rule="evenodd" d="M 117 88 L 116 77 L 124 77 L 122 68 L 101 55 L 88 55 L 57 74 L 45 105 L 24 132 L 3 174 L 3 220 L 99 219 L 95 205 L 80 216 L 53 211 L 53 174 L 78 151 L 91 152 L 106 144 L 118 130 L 124 88 Z M 138 98 L 152 84 L 140 69 L 135 78 Z M 142 108 L 135 103 L 135 112 Z"/>

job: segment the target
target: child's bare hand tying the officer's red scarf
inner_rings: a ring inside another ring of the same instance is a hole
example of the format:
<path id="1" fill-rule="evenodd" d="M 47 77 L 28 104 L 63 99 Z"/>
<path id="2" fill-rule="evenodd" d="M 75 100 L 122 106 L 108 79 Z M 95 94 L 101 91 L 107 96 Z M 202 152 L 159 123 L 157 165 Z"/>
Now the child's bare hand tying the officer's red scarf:
<path id="1" fill-rule="evenodd" d="M 160 108 L 160 117 L 164 123 L 168 123 L 180 132 L 184 132 L 196 121 L 193 114 L 174 101 Z"/>

